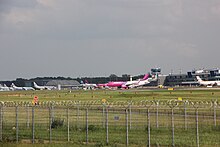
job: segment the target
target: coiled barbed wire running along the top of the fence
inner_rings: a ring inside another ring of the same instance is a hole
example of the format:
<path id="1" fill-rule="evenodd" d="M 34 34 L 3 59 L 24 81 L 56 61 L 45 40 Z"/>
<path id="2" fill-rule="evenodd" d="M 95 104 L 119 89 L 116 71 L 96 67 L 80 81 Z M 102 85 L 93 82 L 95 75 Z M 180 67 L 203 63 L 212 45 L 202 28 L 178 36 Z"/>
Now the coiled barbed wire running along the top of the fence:
<path id="1" fill-rule="evenodd" d="M 68 100 L 68 101 L 39 101 L 38 104 L 33 104 L 30 101 L 0 101 L 0 107 L 27 107 L 27 106 L 37 106 L 37 107 L 118 107 L 118 108 L 128 108 L 133 107 L 168 107 L 168 108 L 182 108 L 182 107 L 192 107 L 192 108 L 218 108 L 220 102 L 217 100 L 210 101 L 190 101 L 190 100 L 140 100 L 140 101 L 107 101 L 107 100 L 90 100 L 90 101 L 79 101 L 79 100 Z"/>

